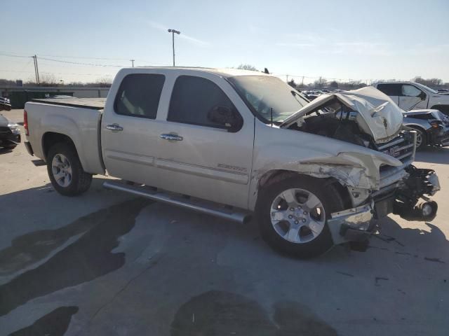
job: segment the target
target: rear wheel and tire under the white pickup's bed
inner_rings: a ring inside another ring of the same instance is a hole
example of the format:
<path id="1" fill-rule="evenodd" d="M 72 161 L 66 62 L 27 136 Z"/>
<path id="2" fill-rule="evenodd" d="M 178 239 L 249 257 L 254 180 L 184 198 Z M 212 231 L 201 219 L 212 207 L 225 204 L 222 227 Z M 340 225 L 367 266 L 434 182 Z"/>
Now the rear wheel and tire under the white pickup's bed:
<path id="1" fill-rule="evenodd" d="M 92 175 L 84 172 L 72 144 L 51 146 L 47 155 L 47 172 L 53 188 L 65 196 L 80 195 L 92 183 Z"/>

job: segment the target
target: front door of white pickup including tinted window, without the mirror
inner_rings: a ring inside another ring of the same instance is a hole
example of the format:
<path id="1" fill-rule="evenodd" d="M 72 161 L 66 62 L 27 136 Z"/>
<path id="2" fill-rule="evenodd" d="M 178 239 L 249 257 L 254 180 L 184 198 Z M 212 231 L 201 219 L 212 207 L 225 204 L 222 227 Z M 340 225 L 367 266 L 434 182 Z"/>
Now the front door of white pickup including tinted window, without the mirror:
<path id="1" fill-rule="evenodd" d="M 203 76 L 209 78 L 174 78 L 167 122 L 159 132 L 160 183 L 178 193 L 246 208 L 254 116 L 226 80 Z M 239 116 L 239 129 L 230 131 L 210 120 L 217 107 Z"/>

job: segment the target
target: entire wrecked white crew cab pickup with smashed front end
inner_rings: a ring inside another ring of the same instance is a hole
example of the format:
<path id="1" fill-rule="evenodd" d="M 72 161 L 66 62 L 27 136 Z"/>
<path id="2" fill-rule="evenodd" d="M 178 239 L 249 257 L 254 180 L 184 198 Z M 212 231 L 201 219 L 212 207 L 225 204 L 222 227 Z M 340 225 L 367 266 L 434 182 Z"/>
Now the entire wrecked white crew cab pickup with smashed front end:
<path id="1" fill-rule="evenodd" d="M 283 253 L 366 240 L 373 218 L 430 221 L 438 177 L 416 169 L 415 132 L 373 87 L 314 102 L 255 71 L 121 69 L 106 100 L 25 105 L 27 150 L 62 195 L 104 186 L 244 223 Z M 427 195 L 427 196 L 424 196 Z"/>

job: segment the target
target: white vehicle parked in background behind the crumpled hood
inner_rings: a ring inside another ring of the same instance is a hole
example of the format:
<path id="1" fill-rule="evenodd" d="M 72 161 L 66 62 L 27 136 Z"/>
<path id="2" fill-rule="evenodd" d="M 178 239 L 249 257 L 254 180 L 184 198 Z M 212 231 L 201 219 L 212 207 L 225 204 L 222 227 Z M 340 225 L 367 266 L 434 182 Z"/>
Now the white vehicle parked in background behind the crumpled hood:
<path id="1" fill-rule="evenodd" d="M 413 82 L 377 83 L 378 90 L 387 94 L 404 111 L 433 109 L 449 116 L 449 95 Z"/>

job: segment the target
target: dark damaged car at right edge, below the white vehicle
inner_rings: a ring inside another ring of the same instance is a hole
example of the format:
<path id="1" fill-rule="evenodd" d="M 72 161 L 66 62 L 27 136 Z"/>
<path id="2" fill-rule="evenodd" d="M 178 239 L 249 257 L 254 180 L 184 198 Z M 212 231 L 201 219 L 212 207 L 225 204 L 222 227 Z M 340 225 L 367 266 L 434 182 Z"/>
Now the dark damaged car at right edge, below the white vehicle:
<path id="1" fill-rule="evenodd" d="M 403 113 L 403 124 L 416 130 L 416 149 L 424 146 L 449 146 L 449 118 L 438 110 L 413 110 Z"/>

